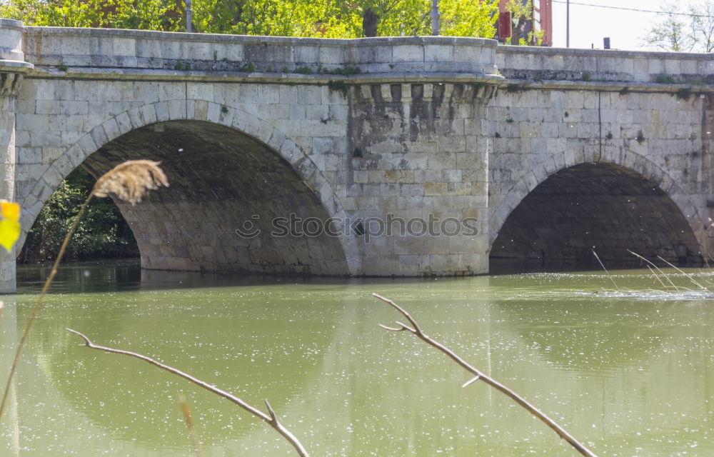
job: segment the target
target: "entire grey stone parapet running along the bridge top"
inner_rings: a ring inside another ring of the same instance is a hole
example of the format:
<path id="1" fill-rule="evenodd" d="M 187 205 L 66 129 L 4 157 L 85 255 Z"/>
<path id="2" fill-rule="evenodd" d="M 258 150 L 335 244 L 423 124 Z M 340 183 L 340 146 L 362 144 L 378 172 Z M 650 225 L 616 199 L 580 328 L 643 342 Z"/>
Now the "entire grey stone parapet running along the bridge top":
<path id="1" fill-rule="evenodd" d="M 113 71 L 137 79 L 220 76 L 236 80 L 242 74 L 265 82 L 295 79 L 306 83 L 341 79 L 342 75 L 360 83 L 434 77 L 491 84 L 503 77 L 575 85 L 714 83 L 710 54 L 498 46 L 488 39 L 446 36 L 314 39 L 23 27 L 19 21 L 0 21 L 9 24 L 0 24 L 0 34 L 24 30 L 26 61 L 67 69 L 66 76 L 100 77 Z M 21 49 L 12 53 L 15 57 L 22 54 Z"/>

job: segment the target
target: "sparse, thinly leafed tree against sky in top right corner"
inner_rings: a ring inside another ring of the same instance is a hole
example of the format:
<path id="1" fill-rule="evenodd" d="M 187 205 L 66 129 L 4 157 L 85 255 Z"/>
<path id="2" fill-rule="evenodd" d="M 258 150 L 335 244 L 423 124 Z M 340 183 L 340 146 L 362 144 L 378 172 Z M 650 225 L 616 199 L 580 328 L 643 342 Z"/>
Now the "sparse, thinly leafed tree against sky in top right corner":
<path id="1" fill-rule="evenodd" d="M 662 7 L 662 16 L 644 38 L 645 44 L 664 51 L 714 51 L 714 1 L 683 8 L 679 3 Z"/>

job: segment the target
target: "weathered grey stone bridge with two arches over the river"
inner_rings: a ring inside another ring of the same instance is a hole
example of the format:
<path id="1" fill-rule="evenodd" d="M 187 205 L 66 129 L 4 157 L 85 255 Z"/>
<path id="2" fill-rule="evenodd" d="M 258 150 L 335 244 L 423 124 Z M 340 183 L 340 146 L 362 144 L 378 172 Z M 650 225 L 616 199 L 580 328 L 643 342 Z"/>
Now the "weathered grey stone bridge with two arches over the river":
<path id="1" fill-rule="evenodd" d="M 422 276 L 593 248 L 610 265 L 628 248 L 706 256 L 708 54 L 2 19 L 0 58 L 0 196 L 27 230 L 77 166 L 159 160 L 169 189 L 116 202 L 145 268 Z"/>

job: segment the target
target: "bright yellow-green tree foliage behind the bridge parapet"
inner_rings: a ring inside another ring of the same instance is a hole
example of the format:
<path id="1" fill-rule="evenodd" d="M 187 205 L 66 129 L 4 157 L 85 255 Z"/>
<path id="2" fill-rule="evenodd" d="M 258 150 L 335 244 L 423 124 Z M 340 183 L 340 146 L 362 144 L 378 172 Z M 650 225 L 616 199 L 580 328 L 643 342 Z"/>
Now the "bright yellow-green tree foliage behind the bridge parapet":
<path id="1" fill-rule="evenodd" d="M 441 0 L 441 34 L 495 34 L 498 0 Z M 431 0 L 193 0 L 193 28 L 214 34 L 360 38 L 431 34 Z M 28 25 L 182 31 L 181 0 L 0 0 Z"/>

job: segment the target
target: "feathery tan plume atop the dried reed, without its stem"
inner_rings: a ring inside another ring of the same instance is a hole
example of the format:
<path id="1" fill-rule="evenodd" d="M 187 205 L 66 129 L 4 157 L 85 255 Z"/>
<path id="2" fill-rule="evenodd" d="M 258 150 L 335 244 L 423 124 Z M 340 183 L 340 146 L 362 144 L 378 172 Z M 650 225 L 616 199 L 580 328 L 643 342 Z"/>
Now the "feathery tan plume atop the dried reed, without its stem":
<path id="1" fill-rule="evenodd" d="M 112 194 L 135 205 L 148 191 L 159 189 L 160 186 L 169 187 L 166 174 L 159 168 L 159 164 L 151 160 L 126 161 L 97 179 L 92 193 L 98 197 Z"/>

